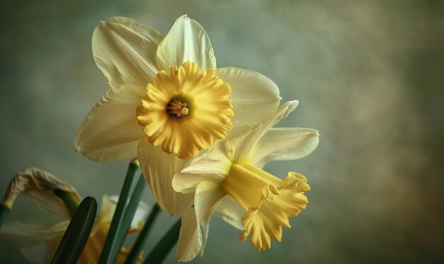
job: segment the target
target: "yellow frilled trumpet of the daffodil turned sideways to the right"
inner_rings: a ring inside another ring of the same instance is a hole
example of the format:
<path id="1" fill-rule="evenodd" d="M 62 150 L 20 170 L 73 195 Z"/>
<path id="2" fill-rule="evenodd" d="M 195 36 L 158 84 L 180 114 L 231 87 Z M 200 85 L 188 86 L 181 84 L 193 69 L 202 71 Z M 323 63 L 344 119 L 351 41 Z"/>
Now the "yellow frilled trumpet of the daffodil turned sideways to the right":
<path id="1" fill-rule="evenodd" d="M 250 243 L 260 251 L 271 247 L 270 236 L 282 239 L 282 226 L 291 227 L 288 217 L 305 209 L 304 192 L 310 190 L 299 173 L 289 172 L 282 180 L 249 162 L 234 163 L 221 187 L 247 210 L 240 239 L 251 235 Z"/>

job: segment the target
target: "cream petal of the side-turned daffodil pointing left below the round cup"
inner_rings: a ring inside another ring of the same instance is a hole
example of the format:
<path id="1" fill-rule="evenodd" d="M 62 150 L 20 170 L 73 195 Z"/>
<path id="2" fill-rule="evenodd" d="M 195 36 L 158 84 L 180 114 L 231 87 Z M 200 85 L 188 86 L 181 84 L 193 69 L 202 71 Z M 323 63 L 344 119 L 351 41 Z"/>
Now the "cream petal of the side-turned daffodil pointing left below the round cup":
<path id="1" fill-rule="evenodd" d="M 193 193 L 202 181 L 222 183 L 231 168 L 231 161 L 225 154 L 225 144 L 217 143 L 213 149 L 190 160 L 172 180 L 177 192 Z"/>

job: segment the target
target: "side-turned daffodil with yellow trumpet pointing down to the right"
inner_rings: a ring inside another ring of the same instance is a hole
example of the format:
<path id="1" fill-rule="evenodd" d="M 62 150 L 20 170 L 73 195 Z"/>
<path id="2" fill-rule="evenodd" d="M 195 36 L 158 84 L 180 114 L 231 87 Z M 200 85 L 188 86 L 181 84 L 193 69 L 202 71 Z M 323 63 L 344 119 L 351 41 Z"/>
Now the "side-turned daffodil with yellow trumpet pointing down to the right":
<path id="1" fill-rule="evenodd" d="M 250 236 L 252 246 L 262 251 L 270 248 L 270 237 L 281 240 L 282 226 L 290 227 L 288 217 L 304 210 L 308 202 L 304 192 L 310 190 L 304 176 L 291 171 L 281 179 L 262 170 L 268 161 L 300 159 L 316 149 L 316 130 L 272 128 L 297 103 L 284 103 L 252 130 L 217 142 L 174 176 L 174 190 L 194 193 L 194 215 L 185 215 L 182 221 L 177 249 L 182 260 L 191 260 L 204 247 L 212 214 L 243 229 L 240 239 Z M 205 231 L 203 246 L 200 223 Z"/>

